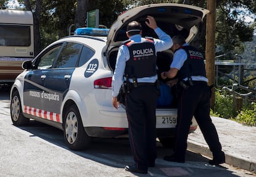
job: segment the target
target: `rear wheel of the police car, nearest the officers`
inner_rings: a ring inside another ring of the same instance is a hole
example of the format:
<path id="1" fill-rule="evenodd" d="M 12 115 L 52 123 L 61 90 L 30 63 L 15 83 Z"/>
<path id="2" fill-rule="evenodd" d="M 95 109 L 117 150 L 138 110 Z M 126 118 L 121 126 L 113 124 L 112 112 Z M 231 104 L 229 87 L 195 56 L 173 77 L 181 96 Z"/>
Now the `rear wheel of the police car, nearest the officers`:
<path id="1" fill-rule="evenodd" d="M 85 132 L 79 110 L 75 105 L 67 107 L 63 120 L 64 138 L 69 149 L 87 149 L 92 138 Z"/>

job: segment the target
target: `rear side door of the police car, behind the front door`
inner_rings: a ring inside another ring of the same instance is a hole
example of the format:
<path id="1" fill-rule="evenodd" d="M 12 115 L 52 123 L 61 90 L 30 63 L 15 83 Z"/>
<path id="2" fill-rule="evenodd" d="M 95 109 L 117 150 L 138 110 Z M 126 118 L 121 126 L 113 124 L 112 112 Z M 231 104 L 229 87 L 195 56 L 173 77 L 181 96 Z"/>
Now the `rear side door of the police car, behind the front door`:
<path id="1" fill-rule="evenodd" d="M 50 113 L 49 118 L 52 121 L 60 121 L 62 101 L 69 89 L 81 49 L 82 44 L 65 43 L 53 67 L 45 73 L 45 91 L 42 94 L 45 100 L 45 110 Z"/>

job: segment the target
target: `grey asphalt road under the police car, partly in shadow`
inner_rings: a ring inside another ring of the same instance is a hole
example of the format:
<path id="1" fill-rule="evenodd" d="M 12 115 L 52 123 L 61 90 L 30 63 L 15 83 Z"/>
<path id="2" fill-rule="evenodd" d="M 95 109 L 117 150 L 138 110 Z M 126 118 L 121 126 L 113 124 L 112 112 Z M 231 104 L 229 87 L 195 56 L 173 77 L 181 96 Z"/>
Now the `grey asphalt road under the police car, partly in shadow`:
<path id="1" fill-rule="evenodd" d="M 163 160 L 171 149 L 158 144 L 156 167 L 147 175 L 124 170 L 133 162 L 127 139 L 93 139 L 90 149 L 67 149 L 61 130 L 30 121 L 12 125 L 9 92 L 0 90 L 0 177 L 1 176 L 254 176 L 249 171 L 209 165 L 208 158 L 187 151 L 186 163 Z"/>

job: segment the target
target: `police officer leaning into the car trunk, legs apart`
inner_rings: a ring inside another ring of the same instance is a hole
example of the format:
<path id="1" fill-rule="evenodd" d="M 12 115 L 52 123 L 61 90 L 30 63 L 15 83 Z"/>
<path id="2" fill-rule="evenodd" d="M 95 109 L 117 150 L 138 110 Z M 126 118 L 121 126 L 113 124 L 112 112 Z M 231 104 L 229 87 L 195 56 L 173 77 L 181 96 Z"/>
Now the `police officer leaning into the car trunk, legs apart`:
<path id="1" fill-rule="evenodd" d="M 179 87 L 179 101 L 177 105 L 176 146 L 174 154 L 164 157 L 170 162 L 185 162 L 187 136 L 192 117 L 194 115 L 203 137 L 213 153 L 211 165 L 225 162 L 224 152 L 218 134 L 210 118 L 211 88 L 207 85 L 203 55 L 195 47 L 189 46 L 184 37 L 173 37 L 173 62 L 168 72 L 161 73 L 161 77 L 177 77 Z"/>

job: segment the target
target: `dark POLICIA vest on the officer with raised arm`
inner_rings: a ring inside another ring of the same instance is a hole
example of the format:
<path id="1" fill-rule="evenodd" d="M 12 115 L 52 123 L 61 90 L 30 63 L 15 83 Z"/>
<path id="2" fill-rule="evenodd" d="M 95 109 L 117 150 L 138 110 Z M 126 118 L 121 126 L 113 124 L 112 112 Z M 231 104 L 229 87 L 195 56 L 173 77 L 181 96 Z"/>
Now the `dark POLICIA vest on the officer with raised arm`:
<path id="1" fill-rule="evenodd" d="M 124 74 L 128 78 L 143 78 L 156 75 L 156 52 L 153 40 L 144 39 L 141 43 L 127 41 L 130 59 L 126 62 Z"/>

